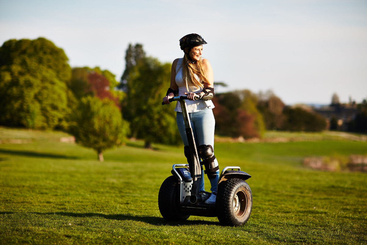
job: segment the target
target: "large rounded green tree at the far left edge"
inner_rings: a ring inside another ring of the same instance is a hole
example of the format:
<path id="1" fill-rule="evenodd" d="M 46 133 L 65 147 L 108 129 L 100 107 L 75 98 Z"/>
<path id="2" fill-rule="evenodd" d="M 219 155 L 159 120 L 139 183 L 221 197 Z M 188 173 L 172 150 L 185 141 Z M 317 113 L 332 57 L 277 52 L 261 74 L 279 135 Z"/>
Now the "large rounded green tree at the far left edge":
<path id="1" fill-rule="evenodd" d="M 8 40 L 0 47 L 0 124 L 53 129 L 67 113 L 71 69 L 51 41 Z"/>

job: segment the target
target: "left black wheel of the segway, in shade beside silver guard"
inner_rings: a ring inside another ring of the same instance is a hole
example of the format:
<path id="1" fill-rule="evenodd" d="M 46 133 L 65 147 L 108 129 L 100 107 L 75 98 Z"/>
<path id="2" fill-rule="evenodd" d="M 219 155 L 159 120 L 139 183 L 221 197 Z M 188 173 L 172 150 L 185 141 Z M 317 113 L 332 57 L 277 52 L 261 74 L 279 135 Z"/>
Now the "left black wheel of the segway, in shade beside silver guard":
<path id="1" fill-rule="evenodd" d="M 158 193 L 158 207 L 162 217 L 167 221 L 187 220 L 190 215 L 178 211 L 178 183 L 174 176 L 163 181 Z"/>

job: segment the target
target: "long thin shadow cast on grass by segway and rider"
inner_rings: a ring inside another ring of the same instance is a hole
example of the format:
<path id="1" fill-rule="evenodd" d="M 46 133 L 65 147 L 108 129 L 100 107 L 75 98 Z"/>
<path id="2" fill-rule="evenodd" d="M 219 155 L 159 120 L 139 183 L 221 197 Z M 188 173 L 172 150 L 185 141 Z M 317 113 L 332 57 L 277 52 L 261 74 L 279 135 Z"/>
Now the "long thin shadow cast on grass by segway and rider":
<path id="1" fill-rule="evenodd" d="M 133 215 L 103 215 L 101 213 L 68 213 L 68 212 L 56 212 L 56 213 L 36 213 L 39 215 L 61 215 L 69 217 L 102 217 L 111 220 L 134 220 L 149 223 L 155 226 L 186 226 L 186 225 L 216 225 L 219 226 L 219 222 L 204 221 L 204 220 L 183 220 L 183 221 L 170 221 L 160 217 L 149 216 L 133 216 Z"/>

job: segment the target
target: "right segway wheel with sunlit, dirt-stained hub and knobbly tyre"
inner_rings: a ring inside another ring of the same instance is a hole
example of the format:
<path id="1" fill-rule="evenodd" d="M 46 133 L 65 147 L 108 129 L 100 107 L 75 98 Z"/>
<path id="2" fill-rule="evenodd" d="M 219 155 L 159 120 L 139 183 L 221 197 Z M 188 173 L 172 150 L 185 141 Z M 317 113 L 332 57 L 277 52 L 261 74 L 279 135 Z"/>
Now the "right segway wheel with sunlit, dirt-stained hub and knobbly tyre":
<path id="1" fill-rule="evenodd" d="M 246 181 L 229 179 L 218 185 L 215 202 L 218 220 L 225 226 L 242 226 L 250 218 L 252 193 Z"/>

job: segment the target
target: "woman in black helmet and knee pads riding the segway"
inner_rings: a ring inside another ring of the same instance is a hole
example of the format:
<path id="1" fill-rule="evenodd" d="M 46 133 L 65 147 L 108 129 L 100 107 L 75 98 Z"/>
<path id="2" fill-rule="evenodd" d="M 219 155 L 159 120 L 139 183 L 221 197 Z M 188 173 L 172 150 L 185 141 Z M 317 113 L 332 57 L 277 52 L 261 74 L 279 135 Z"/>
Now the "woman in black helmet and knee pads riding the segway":
<path id="1" fill-rule="evenodd" d="M 181 50 L 185 53 L 183 58 L 173 61 L 171 69 L 171 84 L 166 97 L 163 98 L 164 104 L 174 96 L 186 95 L 186 102 L 191 127 L 194 133 L 195 143 L 199 145 L 197 152 L 202 159 L 201 165 L 205 166 L 211 184 L 211 195 L 205 201 L 207 204 L 215 204 L 217 195 L 217 184 L 219 178 L 218 161 L 214 156 L 214 126 L 215 120 L 212 112 L 214 104 L 211 98 L 214 96 L 214 77 L 210 62 L 201 58 L 203 44 L 207 42 L 195 33 L 186 35 L 180 40 Z M 200 100 L 194 100 L 199 97 Z M 177 127 L 180 132 L 184 147 L 184 153 L 188 163 L 191 162 L 189 143 L 186 137 L 185 123 L 183 121 L 181 104 L 177 103 Z M 204 190 L 204 171 L 201 171 L 199 191 Z"/>

